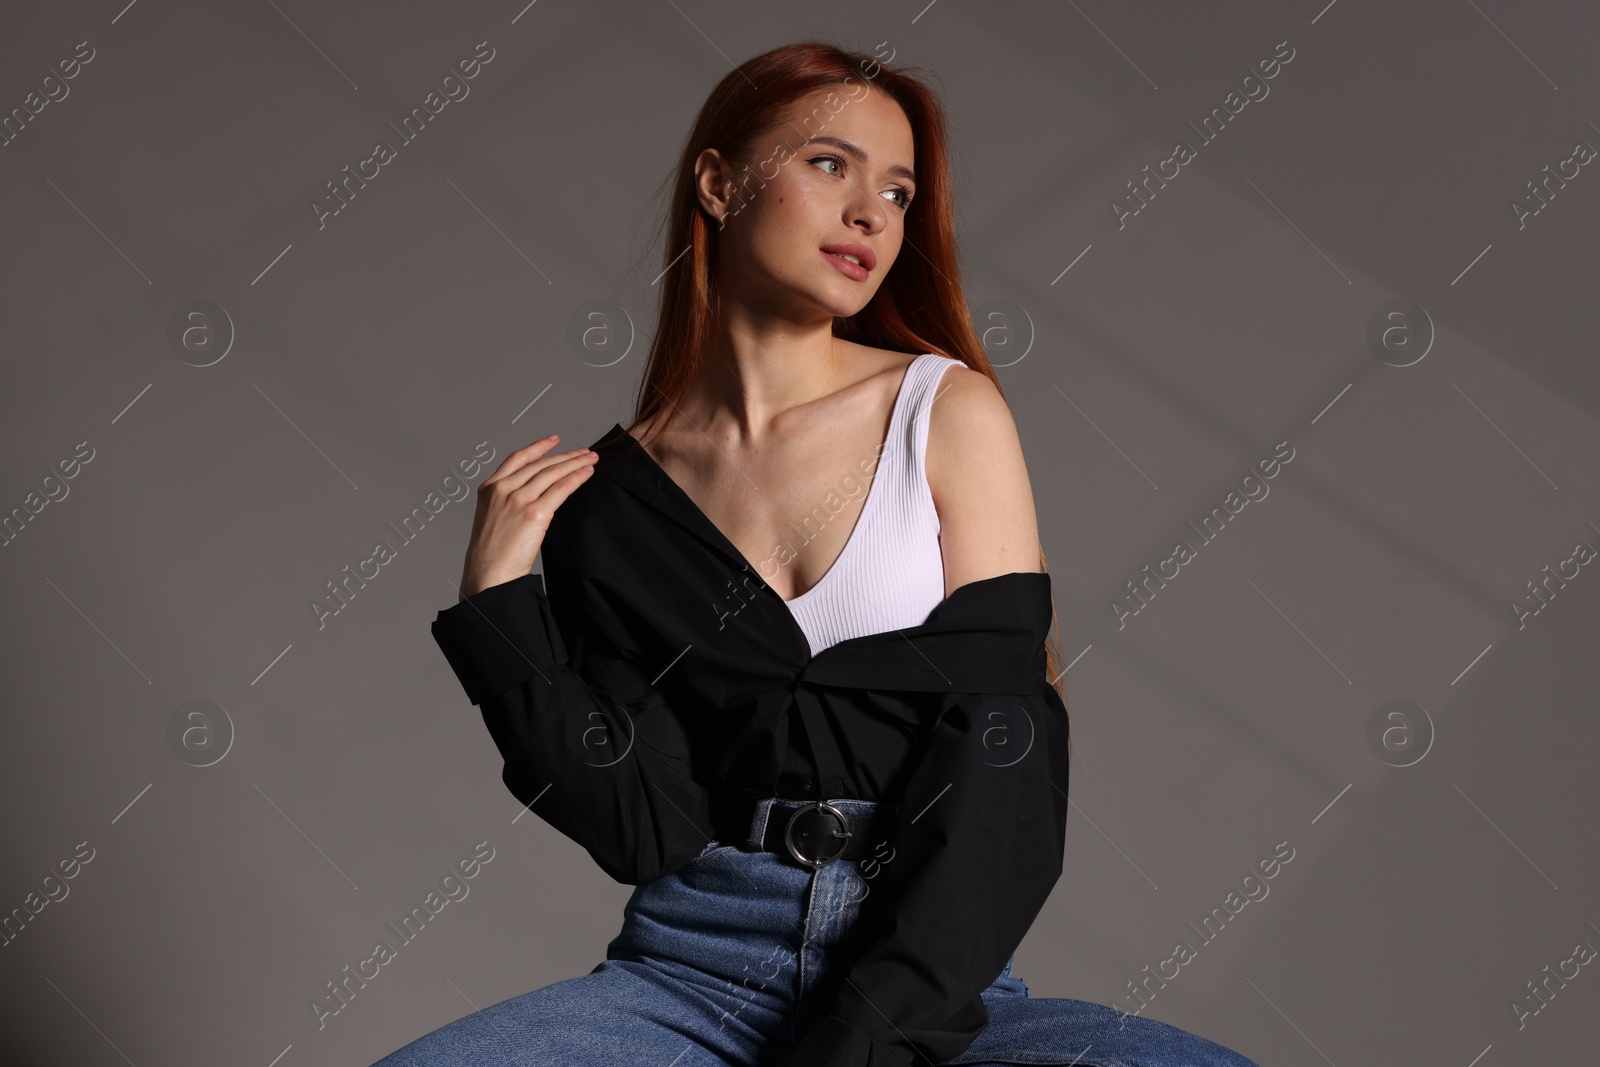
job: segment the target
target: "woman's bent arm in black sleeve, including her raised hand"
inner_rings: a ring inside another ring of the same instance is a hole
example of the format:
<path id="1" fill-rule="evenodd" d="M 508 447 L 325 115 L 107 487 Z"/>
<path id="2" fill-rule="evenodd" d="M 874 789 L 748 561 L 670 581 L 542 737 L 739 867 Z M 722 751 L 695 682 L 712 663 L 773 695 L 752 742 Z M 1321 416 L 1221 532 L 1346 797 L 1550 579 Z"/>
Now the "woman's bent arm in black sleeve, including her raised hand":
<path id="1" fill-rule="evenodd" d="M 632 667 L 618 632 L 595 632 L 600 606 L 571 592 L 584 561 L 571 542 L 560 547 L 562 531 L 581 514 L 571 498 L 597 456 L 550 454 L 555 442 L 517 450 L 478 486 L 461 601 L 438 613 L 434 638 L 483 712 L 512 795 L 608 875 L 640 885 L 706 845 L 707 801 L 672 709 Z M 581 662 L 568 664 L 544 576 L 530 574 L 541 552 L 566 590 L 570 637 L 586 638 Z"/>

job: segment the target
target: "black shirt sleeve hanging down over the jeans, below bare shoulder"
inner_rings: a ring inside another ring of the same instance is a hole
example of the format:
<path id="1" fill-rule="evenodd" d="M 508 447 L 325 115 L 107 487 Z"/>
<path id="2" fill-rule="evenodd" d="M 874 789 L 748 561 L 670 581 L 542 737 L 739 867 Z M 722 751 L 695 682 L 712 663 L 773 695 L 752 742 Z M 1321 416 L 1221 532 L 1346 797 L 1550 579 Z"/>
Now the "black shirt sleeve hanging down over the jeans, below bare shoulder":
<path id="1" fill-rule="evenodd" d="M 944 696 L 872 859 L 853 963 L 778 1067 L 909 1067 L 960 1056 L 1061 877 L 1067 712 L 1037 696 Z"/>

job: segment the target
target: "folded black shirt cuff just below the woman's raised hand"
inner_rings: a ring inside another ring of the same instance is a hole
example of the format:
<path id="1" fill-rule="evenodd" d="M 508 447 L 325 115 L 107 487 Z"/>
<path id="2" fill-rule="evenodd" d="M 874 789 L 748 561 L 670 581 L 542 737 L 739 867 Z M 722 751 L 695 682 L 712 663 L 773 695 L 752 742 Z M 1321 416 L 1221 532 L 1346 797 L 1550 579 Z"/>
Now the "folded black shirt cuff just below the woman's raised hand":
<path id="1" fill-rule="evenodd" d="M 542 574 L 490 585 L 434 619 L 434 640 L 467 691 L 483 704 L 506 689 L 549 675 L 566 662 L 562 632 L 544 595 Z"/>

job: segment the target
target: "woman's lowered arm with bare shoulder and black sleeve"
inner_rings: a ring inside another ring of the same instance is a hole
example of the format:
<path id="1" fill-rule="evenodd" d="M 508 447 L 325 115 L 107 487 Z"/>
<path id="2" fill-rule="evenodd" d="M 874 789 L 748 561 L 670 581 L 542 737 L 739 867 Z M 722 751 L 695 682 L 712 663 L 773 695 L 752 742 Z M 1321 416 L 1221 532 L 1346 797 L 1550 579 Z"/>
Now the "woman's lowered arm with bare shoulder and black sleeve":
<path id="1" fill-rule="evenodd" d="M 947 592 L 1037 573 L 1038 528 L 1010 410 L 974 371 L 952 368 L 942 386 L 926 472 Z M 1016 597 L 986 605 L 979 629 L 1026 622 L 1018 651 L 1042 664 L 1048 581 L 998 587 Z M 973 646 L 970 657 L 989 659 L 992 649 Z M 891 861 L 874 872 L 851 931 L 859 955 L 832 989 L 829 1014 L 776 1067 L 939 1062 L 987 1025 L 979 993 L 1045 905 L 1066 851 L 1067 712 L 1042 665 L 1038 681 L 1032 694 L 942 701 L 896 805 L 891 849 L 882 849 Z"/>

